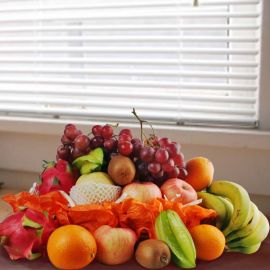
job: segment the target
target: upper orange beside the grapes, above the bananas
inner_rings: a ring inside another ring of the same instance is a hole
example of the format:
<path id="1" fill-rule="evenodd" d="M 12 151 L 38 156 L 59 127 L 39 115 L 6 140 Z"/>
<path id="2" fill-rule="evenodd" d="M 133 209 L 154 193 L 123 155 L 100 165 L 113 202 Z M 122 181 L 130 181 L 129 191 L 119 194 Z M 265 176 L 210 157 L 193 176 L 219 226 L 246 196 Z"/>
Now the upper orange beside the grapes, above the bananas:
<path id="1" fill-rule="evenodd" d="M 196 191 L 201 191 L 213 181 L 213 163 L 205 157 L 195 157 L 186 163 L 187 176 L 185 178 Z"/>

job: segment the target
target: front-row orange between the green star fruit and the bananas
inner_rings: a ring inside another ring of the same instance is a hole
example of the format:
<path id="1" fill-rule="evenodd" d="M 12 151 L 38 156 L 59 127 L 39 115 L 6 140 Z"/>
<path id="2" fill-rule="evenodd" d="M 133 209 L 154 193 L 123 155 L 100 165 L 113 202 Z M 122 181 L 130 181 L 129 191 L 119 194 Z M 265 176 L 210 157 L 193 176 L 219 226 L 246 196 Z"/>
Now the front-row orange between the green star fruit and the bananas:
<path id="1" fill-rule="evenodd" d="M 201 224 L 190 229 L 197 259 L 212 261 L 217 259 L 224 251 L 225 237 L 215 226 Z"/>

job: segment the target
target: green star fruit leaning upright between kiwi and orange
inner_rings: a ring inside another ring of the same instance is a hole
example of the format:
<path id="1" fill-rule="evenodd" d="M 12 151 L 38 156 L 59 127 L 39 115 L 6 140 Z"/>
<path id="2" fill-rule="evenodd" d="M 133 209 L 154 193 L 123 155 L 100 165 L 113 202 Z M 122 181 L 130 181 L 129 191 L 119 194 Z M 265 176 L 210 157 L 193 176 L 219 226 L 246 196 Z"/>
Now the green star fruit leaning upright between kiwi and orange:
<path id="1" fill-rule="evenodd" d="M 196 266 L 196 249 L 192 237 L 178 214 L 173 210 L 162 211 L 155 221 L 157 238 L 172 251 L 174 263 L 181 268 Z"/>

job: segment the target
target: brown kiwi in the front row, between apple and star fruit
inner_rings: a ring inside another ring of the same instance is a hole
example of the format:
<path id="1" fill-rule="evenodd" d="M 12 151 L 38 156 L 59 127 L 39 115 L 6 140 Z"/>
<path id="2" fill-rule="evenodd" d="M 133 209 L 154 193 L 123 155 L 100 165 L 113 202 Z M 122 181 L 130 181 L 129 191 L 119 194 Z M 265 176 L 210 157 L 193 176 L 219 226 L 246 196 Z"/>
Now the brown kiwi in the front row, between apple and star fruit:
<path id="1" fill-rule="evenodd" d="M 166 243 L 157 239 L 147 239 L 138 245 L 135 258 L 138 264 L 147 269 L 159 269 L 171 261 L 171 252 Z"/>

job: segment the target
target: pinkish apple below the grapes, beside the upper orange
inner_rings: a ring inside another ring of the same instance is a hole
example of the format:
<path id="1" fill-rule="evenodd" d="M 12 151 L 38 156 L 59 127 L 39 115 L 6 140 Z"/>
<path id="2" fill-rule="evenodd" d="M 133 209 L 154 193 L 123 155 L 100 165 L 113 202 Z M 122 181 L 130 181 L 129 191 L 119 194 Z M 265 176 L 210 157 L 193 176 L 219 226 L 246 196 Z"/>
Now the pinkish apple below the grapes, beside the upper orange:
<path id="1" fill-rule="evenodd" d="M 178 178 L 168 179 L 160 189 L 163 196 L 166 196 L 169 201 L 177 200 L 182 204 L 186 204 L 197 200 L 195 189 L 187 182 Z"/>

